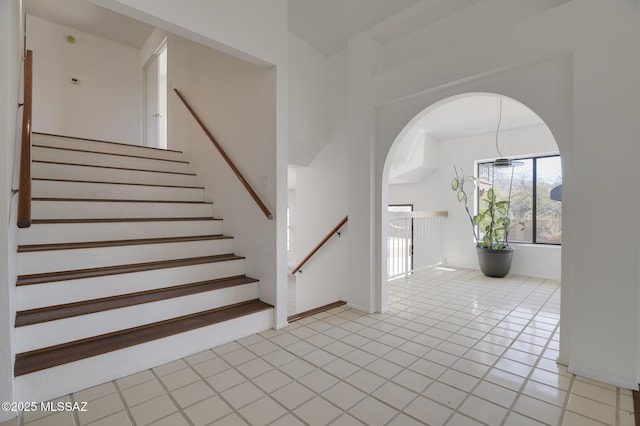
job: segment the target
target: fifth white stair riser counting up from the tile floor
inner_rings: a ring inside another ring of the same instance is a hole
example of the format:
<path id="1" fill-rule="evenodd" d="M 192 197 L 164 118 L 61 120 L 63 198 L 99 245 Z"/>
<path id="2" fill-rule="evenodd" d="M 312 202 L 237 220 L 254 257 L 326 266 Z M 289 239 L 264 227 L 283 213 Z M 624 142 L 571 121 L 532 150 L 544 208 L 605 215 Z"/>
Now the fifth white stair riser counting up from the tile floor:
<path id="1" fill-rule="evenodd" d="M 222 234 L 221 220 L 32 224 L 18 230 L 20 245 Z"/>

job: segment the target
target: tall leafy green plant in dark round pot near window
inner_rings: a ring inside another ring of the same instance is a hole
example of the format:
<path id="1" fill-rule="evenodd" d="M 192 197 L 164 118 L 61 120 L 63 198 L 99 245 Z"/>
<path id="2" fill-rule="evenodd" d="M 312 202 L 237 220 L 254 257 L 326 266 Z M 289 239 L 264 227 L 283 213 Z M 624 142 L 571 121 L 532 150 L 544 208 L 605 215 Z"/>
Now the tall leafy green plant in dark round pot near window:
<path id="1" fill-rule="evenodd" d="M 488 277 L 502 278 L 511 269 L 514 249 L 509 247 L 510 200 L 498 200 L 497 191 L 489 188 L 480 198 L 478 214 L 472 215 L 469 210 L 465 185 L 478 184 L 474 176 L 465 176 L 462 170 L 453 166 L 456 176 L 451 181 L 451 189 L 456 192 L 458 201 L 464 203 L 465 211 L 471 222 L 473 238 L 476 243 L 480 270 Z M 524 226 L 524 223 L 521 224 Z"/>

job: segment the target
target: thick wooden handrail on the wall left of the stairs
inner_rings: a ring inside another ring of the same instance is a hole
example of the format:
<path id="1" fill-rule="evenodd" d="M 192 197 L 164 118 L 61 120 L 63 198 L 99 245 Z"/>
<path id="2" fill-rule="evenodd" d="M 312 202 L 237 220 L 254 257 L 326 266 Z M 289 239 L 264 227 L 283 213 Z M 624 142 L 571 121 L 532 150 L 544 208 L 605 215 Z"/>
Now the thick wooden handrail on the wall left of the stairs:
<path id="1" fill-rule="evenodd" d="M 24 58 L 24 100 L 22 105 L 22 146 L 18 190 L 18 228 L 31 226 L 31 110 L 33 97 L 33 52 Z"/>

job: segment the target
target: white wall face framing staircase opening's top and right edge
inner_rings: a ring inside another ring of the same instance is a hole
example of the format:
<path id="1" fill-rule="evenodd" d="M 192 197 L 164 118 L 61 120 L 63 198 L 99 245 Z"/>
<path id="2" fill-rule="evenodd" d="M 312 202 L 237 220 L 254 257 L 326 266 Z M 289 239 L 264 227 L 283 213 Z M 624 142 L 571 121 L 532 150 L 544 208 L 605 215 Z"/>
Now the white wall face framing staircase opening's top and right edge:
<path id="1" fill-rule="evenodd" d="M 165 31 L 242 58 L 265 69 L 271 68 L 275 99 L 272 117 L 276 133 L 274 149 L 276 173 L 268 182 L 275 191 L 272 209 L 275 237 L 263 250 L 274 260 L 274 276 L 265 273 L 261 294 L 276 304 L 275 326 L 287 324 L 287 2 L 286 0 L 89 0 L 118 13 L 136 18 Z M 171 47 L 169 46 L 169 49 Z M 168 53 L 171 61 L 171 50 Z M 185 67 L 189 64 L 183 64 Z M 209 81 L 205 82 L 207 85 Z M 198 88 L 198 91 L 200 88 Z M 171 97 L 169 98 L 171 99 Z M 170 100 L 170 102 L 172 102 Z M 171 104 L 169 104 L 171 108 Z M 171 110 L 169 111 L 171 115 Z M 171 118 L 169 118 L 171 120 Z M 261 138 L 258 138 L 261 140 Z M 243 169 L 244 170 L 244 169 Z M 258 175 L 260 176 L 260 175 Z M 265 176 L 265 175 L 262 175 Z M 268 176 L 268 175 L 267 175 Z M 231 218 L 225 218 L 231 219 Z M 263 220 L 263 219 L 260 219 Z M 230 224 L 227 224 L 229 226 Z M 260 253 L 260 250 L 257 250 Z M 275 252 L 275 253 L 274 253 Z"/>

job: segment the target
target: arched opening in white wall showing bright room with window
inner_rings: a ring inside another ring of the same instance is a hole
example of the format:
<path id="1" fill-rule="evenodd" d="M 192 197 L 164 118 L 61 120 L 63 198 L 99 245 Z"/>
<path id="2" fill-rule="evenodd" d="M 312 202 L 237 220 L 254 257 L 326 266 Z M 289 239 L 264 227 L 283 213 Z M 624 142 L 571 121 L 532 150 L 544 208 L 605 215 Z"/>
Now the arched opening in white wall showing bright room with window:
<path id="1" fill-rule="evenodd" d="M 484 165 L 500 157 L 524 165 L 514 173 L 512 223 L 525 226 L 512 226 L 509 240 L 517 254 L 511 274 L 560 281 L 562 168 L 551 130 L 515 99 L 465 93 L 415 115 L 388 152 L 381 188 L 383 300 L 388 279 L 406 278 L 421 267 L 478 268 L 469 217 L 451 191 L 453 166 L 478 177 Z M 410 221 L 394 225 L 394 218 L 403 214 L 389 213 L 389 206 L 400 205 L 413 206 L 425 219 L 414 213 Z M 473 215 L 475 196 L 469 207 Z M 434 212 L 448 216 L 443 219 Z"/>

